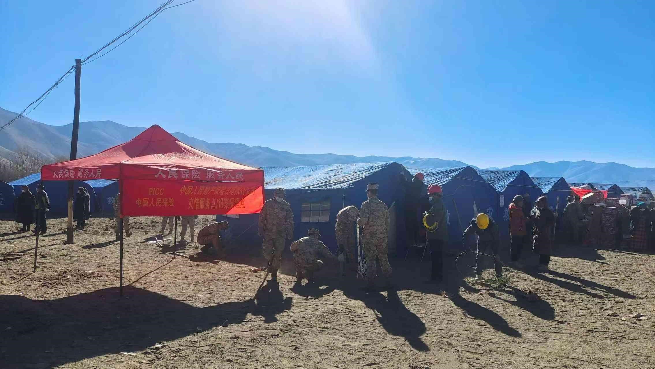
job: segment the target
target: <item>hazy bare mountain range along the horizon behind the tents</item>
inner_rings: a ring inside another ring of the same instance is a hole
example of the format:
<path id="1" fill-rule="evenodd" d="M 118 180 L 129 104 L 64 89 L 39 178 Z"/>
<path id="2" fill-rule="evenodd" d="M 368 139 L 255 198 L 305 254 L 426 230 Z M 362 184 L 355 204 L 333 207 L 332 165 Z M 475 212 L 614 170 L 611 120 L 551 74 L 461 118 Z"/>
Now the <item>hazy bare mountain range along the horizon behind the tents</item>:
<path id="1" fill-rule="evenodd" d="M 16 113 L 0 108 L 0 126 L 9 122 Z M 0 158 L 12 160 L 15 150 L 28 147 L 43 156 L 54 160 L 68 156 L 71 147 L 72 124 L 50 126 L 31 120 L 18 118 L 14 123 L 0 132 Z M 96 154 L 109 147 L 134 138 L 145 127 L 128 127 L 111 120 L 100 122 L 81 122 L 77 144 L 79 158 Z M 436 168 L 468 166 L 457 160 L 440 158 L 413 158 L 403 156 L 352 156 L 338 154 L 295 154 L 288 151 L 274 150 L 263 146 L 248 146 L 242 143 L 208 143 L 201 139 L 172 133 L 180 141 L 198 150 L 233 160 L 248 166 L 316 166 L 326 164 L 347 164 L 367 162 L 398 162 L 411 168 Z M 474 167 L 474 166 L 473 166 Z M 479 169 L 476 167 L 476 169 Z M 564 177 L 569 182 L 616 183 L 627 186 L 654 186 L 655 168 L 635 168 L 614 162 L 595 163 L 580 162 L 534 162 L 531 164 L 504 168 L 487 168 L 503 170 L 523 170 L 532 177 Z"/>

